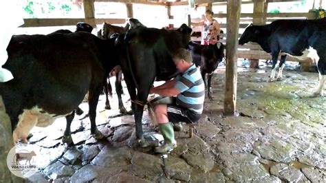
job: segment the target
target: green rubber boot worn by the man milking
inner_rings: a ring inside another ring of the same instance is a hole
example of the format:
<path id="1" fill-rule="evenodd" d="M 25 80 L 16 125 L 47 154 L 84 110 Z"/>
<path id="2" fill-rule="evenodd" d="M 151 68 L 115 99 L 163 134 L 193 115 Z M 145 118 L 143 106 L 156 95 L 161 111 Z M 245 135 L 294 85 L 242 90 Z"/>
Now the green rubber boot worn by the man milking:
<path id="1" fill-rule="evenodd" d="M 160 147 L 155 147 L 156 153 L 165 153 L 172 151 L 177 147 L 177 141 L 174 138 L 173 125 L 171 122 L 162 123 L 158 125 L 160 127 L 160 132 L 164 137 L 164 144 Z"/>

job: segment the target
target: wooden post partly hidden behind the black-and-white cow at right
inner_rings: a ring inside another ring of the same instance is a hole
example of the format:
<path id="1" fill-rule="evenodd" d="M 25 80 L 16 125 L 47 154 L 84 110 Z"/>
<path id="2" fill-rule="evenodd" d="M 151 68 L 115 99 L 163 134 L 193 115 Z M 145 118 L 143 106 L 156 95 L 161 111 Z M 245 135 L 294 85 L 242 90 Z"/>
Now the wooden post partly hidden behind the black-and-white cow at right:
<path id="1" fill-rule="evenodd" d="M 254 0 L 254 13 L 264 13 L 265 10 L 265 0 Z M 267 7 L 266 7 L 267 10 Z M 252 19 L 252 23 L 254 25 L 263 25 L 265 17 L 254 17 Z M 250 59 L 250 68 L 258 69 L 259 68 L 259 60 L 258 59 Z"/>

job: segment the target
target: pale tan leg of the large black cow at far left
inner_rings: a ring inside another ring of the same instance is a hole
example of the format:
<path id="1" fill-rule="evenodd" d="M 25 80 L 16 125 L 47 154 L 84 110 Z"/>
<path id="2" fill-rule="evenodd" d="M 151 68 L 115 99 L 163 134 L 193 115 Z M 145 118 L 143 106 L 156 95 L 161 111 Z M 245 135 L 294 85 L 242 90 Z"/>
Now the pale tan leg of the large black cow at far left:
<path id="1" fill-rule="evenodd" d="M 12 133 L 12 138 L 14 143 L 17 143 L 18 140 L 22 140 L 23 143 L 27 143 L 27 137 L 30 134 L 30 130 L 37 123 L 37 114 L 32 113 L 30 110 L 25 110 L 21 117 L 19 118 L 18 125 L 14 132 Z"/>

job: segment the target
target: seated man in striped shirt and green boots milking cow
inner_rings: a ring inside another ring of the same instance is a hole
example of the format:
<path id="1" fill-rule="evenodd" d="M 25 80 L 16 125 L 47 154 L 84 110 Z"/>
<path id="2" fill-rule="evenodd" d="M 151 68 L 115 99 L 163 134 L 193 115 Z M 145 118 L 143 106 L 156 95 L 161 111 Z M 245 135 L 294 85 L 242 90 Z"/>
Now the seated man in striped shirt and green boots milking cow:
<path id="1" fill-rule="evenodd" d="M 172 151 L 177 146 L 173 123 L 176 127 L 180 127 L 179 122 L 195 123 L 202 116 L 203 111 L 204 80 L 199 67 L 193 63 L 190 52 L 180 48 L 173 56 L 173 62 L 180 74 L 163 85 L 151 87 L 149 91 L 150 94 L 160 96 L 176 96 L 172 103 L 159 103 L 154 107 L 155 118 L 164 137 L 164 144 L 155 148 L 157 153 Z"/>

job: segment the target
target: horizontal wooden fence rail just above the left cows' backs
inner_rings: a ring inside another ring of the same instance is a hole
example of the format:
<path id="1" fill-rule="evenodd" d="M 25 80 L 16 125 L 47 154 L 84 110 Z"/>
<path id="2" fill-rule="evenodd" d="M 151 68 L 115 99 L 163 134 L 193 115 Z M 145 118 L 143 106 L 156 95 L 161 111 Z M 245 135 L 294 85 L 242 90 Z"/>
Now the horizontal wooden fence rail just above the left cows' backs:
<path id="1" fill-rule="evenodd" d="M 110 24 L 126 23 L 126 19 L 24 19 L 25 23 L 20 28 L 76 25 L 80 21 L 85 23 L 94 22 L 96 25 L 102 24 L 103 22 Z"/>

